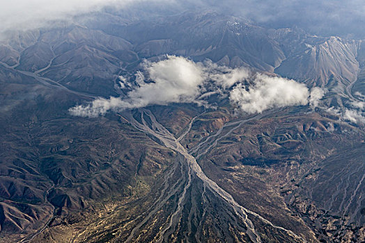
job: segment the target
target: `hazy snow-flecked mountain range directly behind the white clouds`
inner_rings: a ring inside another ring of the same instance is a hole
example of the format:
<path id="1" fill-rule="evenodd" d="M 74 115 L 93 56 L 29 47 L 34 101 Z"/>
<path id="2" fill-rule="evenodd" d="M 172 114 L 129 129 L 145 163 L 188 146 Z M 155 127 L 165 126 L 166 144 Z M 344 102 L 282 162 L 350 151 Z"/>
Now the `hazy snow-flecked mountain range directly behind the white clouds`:
<path id="1" fill-rule="evenodd" d="M 265 71 L 272 71 L 284 59 L 278 43 L 267 37 L 265 28 L 250 24 L 247 19 L 212 11 L 184 12 L 169 19 L 148 19 L 120 26 L 113 23 L 103 26 L 102 31 L 136 44 L 135 51 L 141 58 L 169 53 Z"/>

